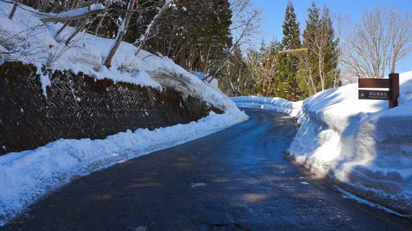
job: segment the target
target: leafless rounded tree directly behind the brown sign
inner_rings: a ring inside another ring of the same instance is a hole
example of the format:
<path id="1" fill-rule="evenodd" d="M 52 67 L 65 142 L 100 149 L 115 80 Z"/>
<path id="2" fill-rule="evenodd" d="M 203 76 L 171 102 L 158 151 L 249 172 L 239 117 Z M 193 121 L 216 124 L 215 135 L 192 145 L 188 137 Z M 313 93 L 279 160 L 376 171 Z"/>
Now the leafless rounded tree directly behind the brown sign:
<path id="1" fill-rule="evenodd" d="M 412 51 L 412 16 L 396 8 L 366 10 L 347 38 L 345 64 L 357 77 L 384 77 Z"/>

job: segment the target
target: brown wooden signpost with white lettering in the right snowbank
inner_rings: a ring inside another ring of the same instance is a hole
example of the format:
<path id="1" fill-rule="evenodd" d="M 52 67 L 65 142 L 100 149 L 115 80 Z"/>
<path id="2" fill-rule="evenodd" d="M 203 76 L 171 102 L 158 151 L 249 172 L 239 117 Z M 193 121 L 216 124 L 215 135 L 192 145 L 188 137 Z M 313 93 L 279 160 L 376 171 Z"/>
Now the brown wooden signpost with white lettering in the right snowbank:
<path id="1" fill-rule="evenodd" d="M 389 74 L 389 79 L 359 79 L 358 86 L 359 88 L 389 88 L 389 90 L 359 89 L 359 99 L 389 100 L 389 109 L 398 106 L 400 94 L 398 73 Z"/>

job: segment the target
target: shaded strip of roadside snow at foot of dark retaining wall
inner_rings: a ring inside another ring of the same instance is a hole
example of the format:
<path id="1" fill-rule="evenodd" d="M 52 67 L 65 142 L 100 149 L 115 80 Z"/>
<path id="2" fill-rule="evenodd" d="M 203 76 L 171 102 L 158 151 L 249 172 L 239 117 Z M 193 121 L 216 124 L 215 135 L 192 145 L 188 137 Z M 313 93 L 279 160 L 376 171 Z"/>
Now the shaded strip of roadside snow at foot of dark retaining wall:
<path id="1" fill-rule="evenodd" d="M 104 140 L 59 140 L 0 156 L 0 226 L 36 199 L 75 178 L 152 151 L 201 138 L 247 120 L 244 112 L 215 114 L 185 125 L 138 129 Z"/>

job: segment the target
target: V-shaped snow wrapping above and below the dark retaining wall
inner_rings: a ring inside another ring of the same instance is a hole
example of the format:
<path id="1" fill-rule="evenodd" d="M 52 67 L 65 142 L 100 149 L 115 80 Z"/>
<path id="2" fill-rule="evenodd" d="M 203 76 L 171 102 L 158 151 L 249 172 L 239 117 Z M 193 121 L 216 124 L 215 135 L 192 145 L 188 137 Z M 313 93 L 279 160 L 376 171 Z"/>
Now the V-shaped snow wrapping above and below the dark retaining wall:
<path id="1" fill-rule="evenodd" d="M 100 6 L 95 6 L 96 8 Z M 21 151 L 0 156 L 0 226 L 10 221 L 36 199 L 67 184 L 73 178 L 87 175 L 117 162 L 122 162 L 152 151 L 165 149 L 217 132 L 248 119 L 227 96 L 203 83 L 172 60 L 159 54 L 140 51 L 122 42 L 110 69 L 101 63 L 112 39 L 79 33 L 66 47 L 65 41 L 73 32 L 67 27 L 54 36 L 61 23 L 42 23 L 44 14 L 19 5 L 12 21 L 8 19 L 12 4 L 0 1 L 0 56 L 1 62 L 21 61 L 34 64 L 41 75 L 43 94 L 50 84 L 47 69 L 82 72 L 96 79 L 128 82 L 151 86 L 159 90 L 174 88 L 183 95 L 192 95 L 225 111 L 186 125 L 120 132 L 104 140 L 60 140 L 32 151 Z M 48 14 L 47 16 L 56 16 Z M 81 99 L 80 99 L 81 100 Z"/>

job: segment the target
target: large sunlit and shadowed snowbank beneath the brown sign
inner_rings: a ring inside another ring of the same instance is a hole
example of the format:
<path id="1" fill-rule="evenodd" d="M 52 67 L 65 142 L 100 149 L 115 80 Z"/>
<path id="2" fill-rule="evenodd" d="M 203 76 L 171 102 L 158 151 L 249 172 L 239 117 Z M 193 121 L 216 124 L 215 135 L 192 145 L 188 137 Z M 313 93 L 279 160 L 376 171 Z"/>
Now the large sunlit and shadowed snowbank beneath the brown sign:
<path id="1" fill-rule="evenodd" d="M 358 100 L 357 84 L 309 97 L 288 151 L 343 189 L 412 215 L 412 72 L 400 82 L 391 110 L 387 101 Z"/>

